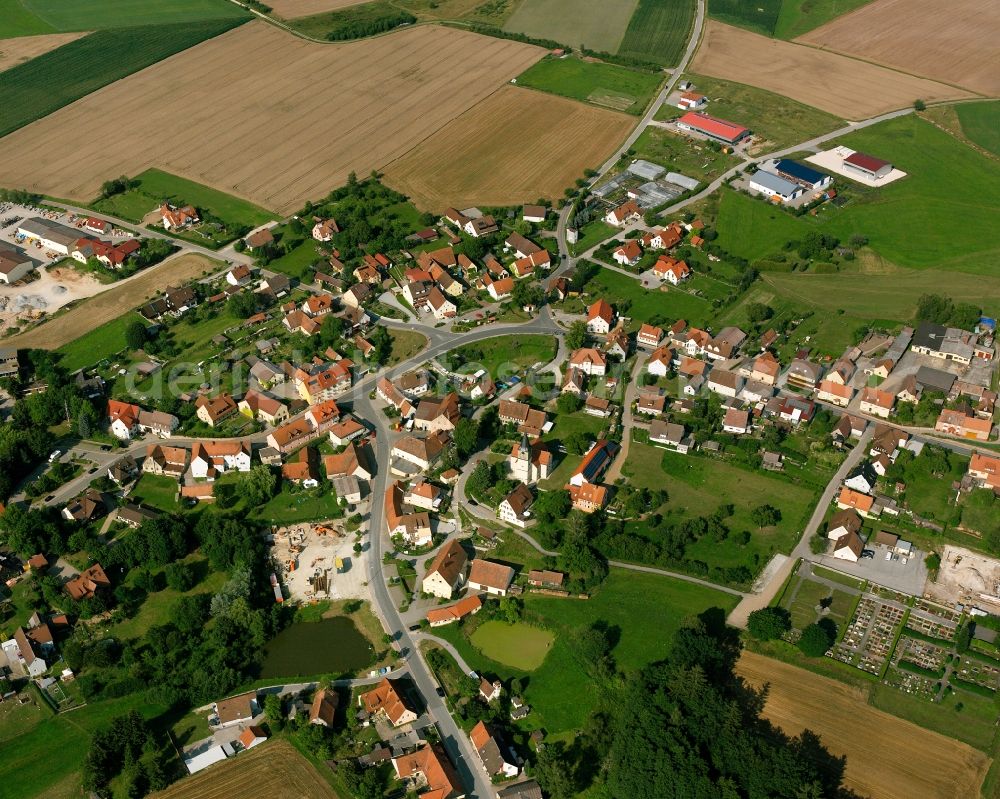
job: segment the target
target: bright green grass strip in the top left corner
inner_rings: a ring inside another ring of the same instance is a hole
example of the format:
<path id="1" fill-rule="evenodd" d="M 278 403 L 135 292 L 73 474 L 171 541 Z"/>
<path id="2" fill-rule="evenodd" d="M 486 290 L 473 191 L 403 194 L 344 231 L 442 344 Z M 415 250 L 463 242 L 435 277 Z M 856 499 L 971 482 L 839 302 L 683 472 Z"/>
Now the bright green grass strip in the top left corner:
<path id="1" fill-rule="evenodd" d="M 248 17 L 226 0 L 0 0 L 0 36 Z"/>

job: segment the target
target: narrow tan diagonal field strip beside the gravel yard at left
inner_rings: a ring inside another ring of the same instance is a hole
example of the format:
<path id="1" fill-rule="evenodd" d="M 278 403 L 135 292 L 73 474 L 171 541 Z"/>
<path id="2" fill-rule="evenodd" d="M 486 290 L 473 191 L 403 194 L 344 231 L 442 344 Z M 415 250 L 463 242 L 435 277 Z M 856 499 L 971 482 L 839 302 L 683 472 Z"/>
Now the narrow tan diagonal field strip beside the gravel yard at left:
<path id="1" fill-rule="evenodd" d="M 143 270 L 130 280 L 85 300 L 75 308 L 26 333 L 2 339 L 0 344 L 18 348 L 58 349 L 112 319 L 117 319 L 126 311 L 142 305 L 167 286 L 179 286 L 188 280 L 200 277 L 206 270 L 211 272 L 221 269 L 222 266 L 221 262 L 216 263 L 203 255 L 178 255 Z"/>

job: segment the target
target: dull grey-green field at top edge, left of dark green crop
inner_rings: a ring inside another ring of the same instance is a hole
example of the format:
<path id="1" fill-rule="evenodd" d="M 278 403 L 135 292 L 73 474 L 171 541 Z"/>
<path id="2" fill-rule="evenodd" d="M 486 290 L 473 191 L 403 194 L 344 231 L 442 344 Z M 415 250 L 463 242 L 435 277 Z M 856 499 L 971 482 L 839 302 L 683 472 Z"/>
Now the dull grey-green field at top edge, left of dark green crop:
<path id="1" fill-rule="evenodd" d="M 523 0 L 503 29 L 568 47 L 614 53 L 637 5 L 638 0 L 601 0 L 581 9 L 579 0 Z"/>

